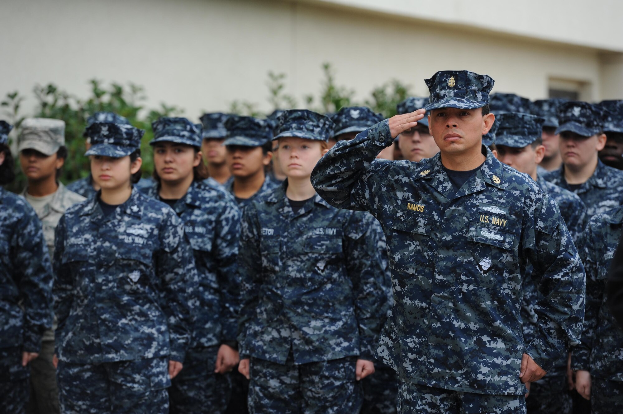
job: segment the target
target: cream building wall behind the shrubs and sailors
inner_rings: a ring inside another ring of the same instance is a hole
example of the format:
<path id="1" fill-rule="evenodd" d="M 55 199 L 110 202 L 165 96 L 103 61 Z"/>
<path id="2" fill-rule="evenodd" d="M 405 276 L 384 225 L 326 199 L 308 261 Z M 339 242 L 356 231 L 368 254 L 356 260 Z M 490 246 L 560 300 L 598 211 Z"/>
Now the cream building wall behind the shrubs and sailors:
<path id="1" fill-rule="evenodd" d="M 320 90 L 321 63 L 331 62 L 337 83 L 358 99 L 392 78 L 427 94 L 424 78 L 462 69 L 491 75 L 494 91 L 531 99 L 547 97 L 551 86 L 577 88 L 583 99 L 623 98 L 620 34 L 563 42 L 551 30 L 535 30 L 542 37 L 531 38 L 536 23 L 508 9 L 478 14 L 470 26 L 475 14 L 458 0 L 446 2 L 455 11 L 445 20 L 430 6 L 428 14 L 397 14 L 404 3 L 420 2 L 3 0 L 0 97 L 19 90 L 29 96 L 28 109 L 36 83 L 86 96 L 91 78 L 133 81 L 145 86 L 149 108 L 166 102 L 197 120 L 234 100 L 270 111 L 269 70 L 287 74 L 287 92 L 302 104 L 303 95 Z M 592 2 L 601 3 L 611 2 Z M 620 16 L 623 5 L 612 3 L 607 15 Z M 586 25 L 599 25 L 603 9 L 594 7 L 589 15 L 597 21 Z"/>

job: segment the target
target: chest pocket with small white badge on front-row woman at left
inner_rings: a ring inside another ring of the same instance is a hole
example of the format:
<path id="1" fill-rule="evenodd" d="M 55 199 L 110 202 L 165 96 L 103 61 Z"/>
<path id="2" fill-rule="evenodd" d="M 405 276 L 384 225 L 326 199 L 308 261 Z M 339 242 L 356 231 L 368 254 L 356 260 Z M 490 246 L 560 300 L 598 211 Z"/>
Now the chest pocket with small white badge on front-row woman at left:
<path id="1" fill-rule="evenodd" d="M 141 292 L 151 283 L 153 257 L 148 249 L 124 249 L 117 253 L 118 285 L 126 292 Z"/>

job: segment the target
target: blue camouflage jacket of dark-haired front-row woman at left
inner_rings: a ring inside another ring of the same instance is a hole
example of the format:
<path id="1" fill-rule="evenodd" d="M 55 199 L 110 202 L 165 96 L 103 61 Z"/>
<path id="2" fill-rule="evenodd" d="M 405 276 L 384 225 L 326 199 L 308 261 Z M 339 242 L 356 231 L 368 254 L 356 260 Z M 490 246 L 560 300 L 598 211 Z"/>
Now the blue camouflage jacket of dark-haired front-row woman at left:
<path id="1" fill-rule="evenodd" d="M 59 359 L 183 362 L 196 270 L 184 224 L 169 206 L 134 188 L 105 217 L 97 197 L 89 198 L 62 216 L 55 247 Z"/>

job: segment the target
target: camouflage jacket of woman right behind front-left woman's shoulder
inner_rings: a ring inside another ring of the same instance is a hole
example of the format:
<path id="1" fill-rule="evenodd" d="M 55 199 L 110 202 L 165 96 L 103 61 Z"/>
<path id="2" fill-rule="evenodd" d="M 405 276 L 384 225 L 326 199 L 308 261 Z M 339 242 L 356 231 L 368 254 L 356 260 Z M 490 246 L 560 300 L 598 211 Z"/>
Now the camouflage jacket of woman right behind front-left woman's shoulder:
<path id="1" fill-rule="evenodd" d="M 158 198 L 157 183 L 143 191 Z M 184 222 L 199 278 L 198 289 L 191 295 L 197 301 L 191 347 L 235 343 L 240 306 L 235 277 L 240 210 L 221 185 L 207 180 L 193 182 L 173 209 Z"/>

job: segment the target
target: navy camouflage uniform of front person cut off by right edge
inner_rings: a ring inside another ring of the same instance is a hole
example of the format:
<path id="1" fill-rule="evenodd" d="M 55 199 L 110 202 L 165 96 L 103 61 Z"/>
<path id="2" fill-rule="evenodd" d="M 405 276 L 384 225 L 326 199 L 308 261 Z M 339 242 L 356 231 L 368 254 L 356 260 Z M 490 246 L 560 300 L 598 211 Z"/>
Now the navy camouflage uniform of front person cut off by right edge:
<path id="1" fill-rule="evenodd" d="M 591 373 L 594 414 L 623 412 L 623 331 L 607 306 L 607 272 L 619 244 L 623 206 L 597 214 L 578 243 L 586 269 L 586 317 L 571 368 Z"/>

